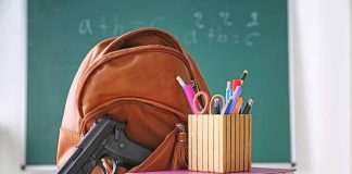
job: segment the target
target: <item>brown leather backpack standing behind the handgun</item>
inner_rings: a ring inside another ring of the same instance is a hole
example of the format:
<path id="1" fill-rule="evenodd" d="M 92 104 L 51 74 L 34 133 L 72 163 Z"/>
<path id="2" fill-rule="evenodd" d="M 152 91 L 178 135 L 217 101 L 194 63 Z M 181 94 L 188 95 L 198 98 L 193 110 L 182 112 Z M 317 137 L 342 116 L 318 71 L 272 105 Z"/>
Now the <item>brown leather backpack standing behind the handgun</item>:
<path id="1" fill-rule="evenodd" d="M 191 113 L 175 77 L 209 92 L 193 60 L 172 35 L 142 28 L 95 46 L 71 86 L 60 128 L 61 166 L 103 113 L 126 122 L 127 136 L 152 154 L 129 172 L 171 170 L 178 141 L 176 123 Z M 187 159 L 187 158 L 186 158 Z M 105 164 L 108 165 L 108 164 Z M 126 172 L 126 171 L 125 171 Z"/>

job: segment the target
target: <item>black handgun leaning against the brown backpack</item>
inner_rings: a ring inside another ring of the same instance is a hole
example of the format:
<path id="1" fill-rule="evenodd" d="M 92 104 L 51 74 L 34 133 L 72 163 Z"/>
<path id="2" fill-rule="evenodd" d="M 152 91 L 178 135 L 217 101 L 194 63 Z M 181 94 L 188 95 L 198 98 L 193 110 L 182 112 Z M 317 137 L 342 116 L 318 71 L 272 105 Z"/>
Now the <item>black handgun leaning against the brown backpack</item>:
<path id="1" fill-rule="evenodd" d="M 112 173 L 116 173 L 117 166 L 129 170 L 143 162 L 152 151 L 129 140 L 125 126 L 108 114 L 96 121 L 58 174 L 90 174 L 96 166 L 105 174 L 102 159 L 111 161 Z"/>

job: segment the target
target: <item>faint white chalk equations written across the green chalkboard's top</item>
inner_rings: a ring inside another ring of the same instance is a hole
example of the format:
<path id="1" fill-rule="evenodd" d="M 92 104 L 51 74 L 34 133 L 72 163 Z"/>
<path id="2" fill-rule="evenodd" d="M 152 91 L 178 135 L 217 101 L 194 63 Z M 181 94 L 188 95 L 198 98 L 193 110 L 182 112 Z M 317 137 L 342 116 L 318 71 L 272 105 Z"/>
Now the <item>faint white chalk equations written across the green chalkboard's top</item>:
<path id="1" fill-rule="evenodd" d="M 206 15 L 201 11 L 196 11 L 193 16 L 193 28 L 190 30 L 185 30 L 184 34 L 176 36 L 185 45 L 197 45 L 198 42 L 204 41 L 205 38 L 209 44 L 232 44 L 232 45 L 244 45 L 252 47 L 255 41 L 261 37 L 260 28 L 260 15 L 256 11 L 252 11 L 247 16 L 248 22 L 244 26 L 237 24 L 234 21 L 234 16 L 228 11 L 219 11 L 217 13 L 218 22 L 217 25 L 211 25 L 206 23 Z M 238 17 L 238 16 L 237 16 Z M 118 36 L 130 29 L 137 29 L 140 27 L 156 27 L 162 26 L 163 23 L 167 22 L 164 17 L 154 17 L 150 21 L 130 21 L 128 24 L 123 23 L 118 15 L 114 15 L 109 18 L 106 16 L 101 16 L 98 20 L 81 18 L 78 23 L 78 34 L 85 36 L 102 36 L 108 35 Z M 240 28 L 244 27 L 246 33 L 226 33 L 225 30 L 231 30 L 229 28 Z M 204 35 L 205 34 L 205 35 Z M 202 38 L 202 39 L 201 39 Z"/>

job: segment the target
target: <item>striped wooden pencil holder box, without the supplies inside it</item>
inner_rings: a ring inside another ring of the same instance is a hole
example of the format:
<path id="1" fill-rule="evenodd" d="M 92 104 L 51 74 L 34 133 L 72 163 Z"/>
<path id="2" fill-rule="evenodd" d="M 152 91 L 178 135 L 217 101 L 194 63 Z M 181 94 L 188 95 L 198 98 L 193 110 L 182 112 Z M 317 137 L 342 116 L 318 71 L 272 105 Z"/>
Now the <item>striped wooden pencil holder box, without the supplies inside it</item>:
<path id="1" fill-rule="evenodd" d="M 216 173 L 251 171 L 250 114 L 190 114 L 188 133 L 190 171 Z"/>

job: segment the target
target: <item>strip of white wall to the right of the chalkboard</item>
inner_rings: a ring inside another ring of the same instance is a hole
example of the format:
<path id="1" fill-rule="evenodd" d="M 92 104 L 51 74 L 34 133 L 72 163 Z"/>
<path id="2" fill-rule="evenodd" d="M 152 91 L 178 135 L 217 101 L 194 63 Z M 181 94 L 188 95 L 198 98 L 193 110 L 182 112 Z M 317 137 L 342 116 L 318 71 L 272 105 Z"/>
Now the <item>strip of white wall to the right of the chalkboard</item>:
<path id="1" fill-rule="evenodd" d="M 291 0 L 300 173 L 352 173 L 351 2 Z"/>

